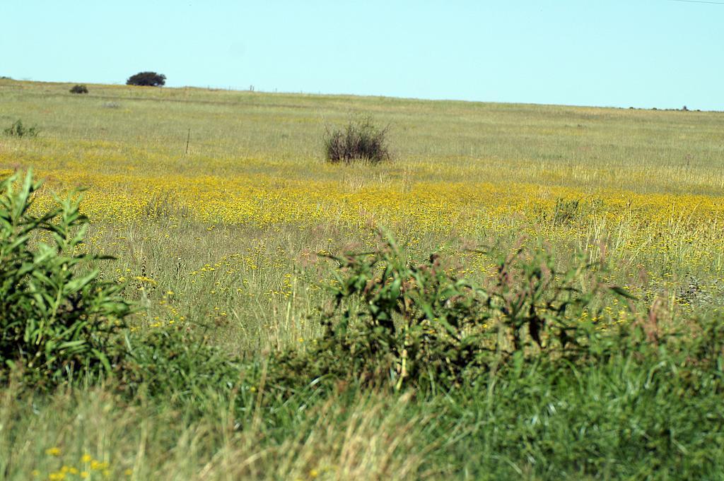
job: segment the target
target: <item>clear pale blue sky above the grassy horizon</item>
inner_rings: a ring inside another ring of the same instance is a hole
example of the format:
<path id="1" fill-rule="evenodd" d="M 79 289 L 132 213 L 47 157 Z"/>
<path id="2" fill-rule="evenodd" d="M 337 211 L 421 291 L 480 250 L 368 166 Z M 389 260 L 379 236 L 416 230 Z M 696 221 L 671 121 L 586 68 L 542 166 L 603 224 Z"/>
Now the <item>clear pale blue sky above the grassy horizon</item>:
<path id="1" fill-rule="evenodd" d="M 724 110 L 724 4 L 0 0 L 0 75 Z"/>

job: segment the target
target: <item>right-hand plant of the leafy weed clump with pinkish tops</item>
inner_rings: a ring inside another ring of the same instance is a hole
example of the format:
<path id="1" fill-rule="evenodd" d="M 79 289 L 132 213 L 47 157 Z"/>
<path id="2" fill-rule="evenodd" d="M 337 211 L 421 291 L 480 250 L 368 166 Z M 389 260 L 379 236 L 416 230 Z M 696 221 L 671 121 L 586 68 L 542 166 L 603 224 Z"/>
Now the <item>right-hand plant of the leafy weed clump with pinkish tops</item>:
<path id="1" fill-rule="evenodd" d="M 481 253 L 492 257 L 495 265 L 495 276 L 484 289 L 489 296 L 487 309 L 498 320 L 498 352 L 508 356 L 547 352 L 578 359 L 610 349 L 602 339 L 612 332 L 610 319 L 604 319 L 597 307 L 602 294 L 633 297 L 601 281 L 602 263 L 586 263 L 578 255 L 575 267 L 561 271 L 541 244 L 529 249 L 519 243 L 513 250 Z"/>

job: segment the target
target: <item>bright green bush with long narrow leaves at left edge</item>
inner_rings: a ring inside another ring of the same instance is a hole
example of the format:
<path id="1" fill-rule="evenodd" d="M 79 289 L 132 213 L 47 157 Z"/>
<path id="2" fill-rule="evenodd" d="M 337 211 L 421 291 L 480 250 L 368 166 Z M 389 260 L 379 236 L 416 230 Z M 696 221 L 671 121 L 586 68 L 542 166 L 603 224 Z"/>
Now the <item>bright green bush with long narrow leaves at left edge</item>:
<path id="1" fill-rule="evenodd" d="M 35 216 L 39 184 L 30 171 L 16 190 L 19 181 L 0 183 L 0 369 L 22 365 L 50 383 L 80 370 L 107 372 L 131 312 L 122 286 L 89 266 L 109 257 L 79 253 L 88 229 L 80 197 Z"/>

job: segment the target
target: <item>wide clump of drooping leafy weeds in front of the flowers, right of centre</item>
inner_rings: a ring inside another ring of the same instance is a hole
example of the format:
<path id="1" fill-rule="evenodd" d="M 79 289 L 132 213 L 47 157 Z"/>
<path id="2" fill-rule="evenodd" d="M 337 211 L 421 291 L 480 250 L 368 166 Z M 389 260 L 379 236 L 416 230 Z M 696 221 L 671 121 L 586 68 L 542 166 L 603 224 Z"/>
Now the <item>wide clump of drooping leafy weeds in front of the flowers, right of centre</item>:
<path id="1" fill-rule="evenodd" d="M 329 256 L 340 270 L 324 336 L 307 352 L 284 354 L 286 373 L 387 379 L 397 389 L 452 386 L 511 359 L 609 352 L 587 312 L 605 290 L 626 293 L 602 284 L 594 265 L 559 272 L 546 250 L 518 247 L 488 253 L 496 273 L 478 283 L 438 254 L 408 261 L 390 234 L 380 234 L 374 252 Z"/>

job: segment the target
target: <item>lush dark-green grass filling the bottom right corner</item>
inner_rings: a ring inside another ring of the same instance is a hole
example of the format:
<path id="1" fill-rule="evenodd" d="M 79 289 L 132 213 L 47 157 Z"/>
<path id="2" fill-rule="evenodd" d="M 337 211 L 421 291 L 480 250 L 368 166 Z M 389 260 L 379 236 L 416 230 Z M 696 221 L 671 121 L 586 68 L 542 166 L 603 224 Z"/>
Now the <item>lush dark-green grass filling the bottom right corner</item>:
<path id="1" fill-rule="evenodd" d="M 483 480 L 720 479 L 722 380 L 692 386 L 683 374 L 666 352 L 505 368 L 428 406 L 466 431 L 437 463 Z"/>

